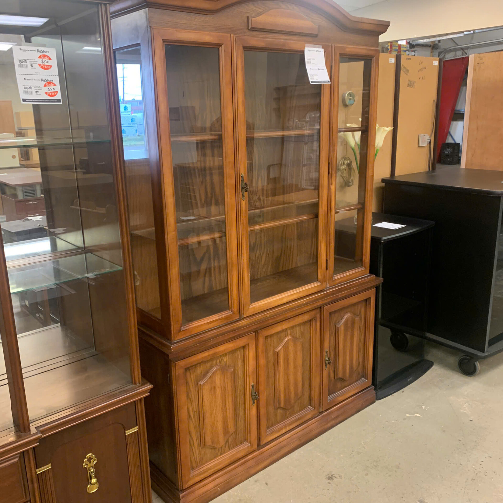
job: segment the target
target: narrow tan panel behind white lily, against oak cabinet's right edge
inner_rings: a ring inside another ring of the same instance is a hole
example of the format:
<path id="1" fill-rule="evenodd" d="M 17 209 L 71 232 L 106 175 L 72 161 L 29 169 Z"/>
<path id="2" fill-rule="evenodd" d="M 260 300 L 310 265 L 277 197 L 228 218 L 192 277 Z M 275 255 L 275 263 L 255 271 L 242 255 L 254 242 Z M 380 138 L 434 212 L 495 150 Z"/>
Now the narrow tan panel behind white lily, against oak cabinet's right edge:
<path id="1" fill-rule="evenodd" d="M 393 125 L 393 104 L 395 93 L 394 54 L 380 54 L 379 56 L 379 85 L 377 96 L 377 124 L 391 127 Z M 382 211 L 383 177 L 389 177 L 391 172 L 391 131 L 386 135 L 383 146 L 374 163 L 374 198 L 372 210 Z"/>

